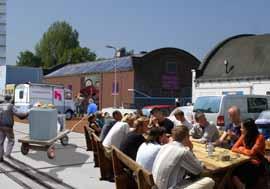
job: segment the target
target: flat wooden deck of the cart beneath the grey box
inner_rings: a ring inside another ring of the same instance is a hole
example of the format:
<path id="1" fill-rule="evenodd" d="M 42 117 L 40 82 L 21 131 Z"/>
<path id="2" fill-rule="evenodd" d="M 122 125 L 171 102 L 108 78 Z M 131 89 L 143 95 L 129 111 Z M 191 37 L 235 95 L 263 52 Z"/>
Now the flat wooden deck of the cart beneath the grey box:
<path id="1" fill-rule="evenodd" d="M 70 130 L 61 131 L 57 134 L 56 137 L 50 140 L 33 140 L 33 139 L 30 139 L 29 136 L 25 136 L 23 138 L 18 139 L 18 142 L 39 144 L 39 145 L 50 145 L 50 144 L 53 144 L 55 141 L 61 139 L 63 136 L 67 135 L 68 133 L 70 133 Z"/>

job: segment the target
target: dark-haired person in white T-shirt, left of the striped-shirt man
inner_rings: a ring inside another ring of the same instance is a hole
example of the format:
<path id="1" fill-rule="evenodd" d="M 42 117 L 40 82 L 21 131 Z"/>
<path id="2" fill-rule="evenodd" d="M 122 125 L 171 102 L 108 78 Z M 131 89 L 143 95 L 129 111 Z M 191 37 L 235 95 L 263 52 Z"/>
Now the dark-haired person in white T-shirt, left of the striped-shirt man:
<path id="1" fill-rule="evenodd" d="M 136 162 L 149 172 L 152 172 L 153 163 L 161 145 L 168 142 L 169 139 L 166 136 L 165 128 L 151 128 L 146 136 L 146 141 L 138 149 Z"/>

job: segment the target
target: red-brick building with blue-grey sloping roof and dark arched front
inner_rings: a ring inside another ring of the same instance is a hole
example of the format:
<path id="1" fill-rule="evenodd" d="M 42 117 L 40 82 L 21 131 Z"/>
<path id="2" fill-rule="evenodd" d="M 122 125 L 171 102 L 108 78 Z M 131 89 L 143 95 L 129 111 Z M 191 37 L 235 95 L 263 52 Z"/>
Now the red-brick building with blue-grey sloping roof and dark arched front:
<path id="1" fill-rule="evenodd" d="M 191 70 L 199 64 L 197 58 L 184 50 L 161 48 L 138 55 L 66 65 L 46 75 L 44 80 L 64 84 L 74 95 L 80 91 L 94 95 L 101 108 L 113 106 L 113 95 L 117 106 L 141 107 L 168 103 L 162 99 L 190 98 Z M 157 100 L 149 101 L 149 96 Z"/>

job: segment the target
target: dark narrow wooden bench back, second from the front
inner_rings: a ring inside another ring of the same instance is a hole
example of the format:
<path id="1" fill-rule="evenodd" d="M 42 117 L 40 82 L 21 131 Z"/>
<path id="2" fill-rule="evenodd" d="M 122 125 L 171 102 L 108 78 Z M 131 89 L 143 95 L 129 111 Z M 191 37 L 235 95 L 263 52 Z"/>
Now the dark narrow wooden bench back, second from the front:
<path id="1" fill-rule="evenodd" d="M 100 138 L 94 133 L 91 133 L 92 138 L 92 146 L 94 151 L 94 158 L 95 161 L 98 161 L 98 165 L 100 168 L 100 180 L 106 180 L 106 181 L 114 181 L 114 175 L 113 175 L 113 167 L 112 167 L 112 159 L 108 158 L 106 156 L 106 151 L 104 146 L 102 145 L 102 142 Z M 96 151 L 96 153 L 95 153 Z"/>

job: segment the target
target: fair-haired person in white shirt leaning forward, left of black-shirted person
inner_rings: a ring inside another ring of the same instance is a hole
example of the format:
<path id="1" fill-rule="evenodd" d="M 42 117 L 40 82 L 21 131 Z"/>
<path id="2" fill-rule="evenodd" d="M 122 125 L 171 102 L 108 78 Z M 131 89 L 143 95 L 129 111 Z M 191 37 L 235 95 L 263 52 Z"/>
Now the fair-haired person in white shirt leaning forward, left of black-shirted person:
<path id="1" fill-rule="evenodd" d="M 103 140 L 103 146 L 110 148 L 111 145 L 114 145 L 115 147 L 120 148 L 120 144 L 126 138 L 129 128 L 133 127 L 134 120 L 135 117 L 128 114 L 124 116 L 121 121 L 116 122 Z"/>

